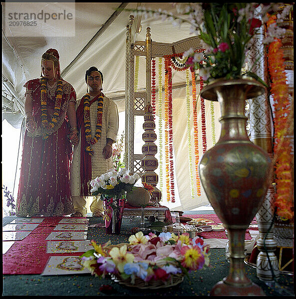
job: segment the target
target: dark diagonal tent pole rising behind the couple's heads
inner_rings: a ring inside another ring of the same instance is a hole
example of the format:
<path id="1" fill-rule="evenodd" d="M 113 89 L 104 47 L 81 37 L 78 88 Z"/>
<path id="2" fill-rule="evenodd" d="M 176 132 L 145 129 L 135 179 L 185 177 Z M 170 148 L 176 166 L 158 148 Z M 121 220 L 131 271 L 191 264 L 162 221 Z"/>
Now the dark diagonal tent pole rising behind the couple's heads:
<path id="1" fill-rule="evenodd" d="M 119 13 L 127 6 L 128 2 L 122 2 L 118 8 L 113 12 L 113 14 L 108 18 L 104 25 L 99 29 L 99 31 L 91 38 L 91 40 L 84 46 L 84 48 L 78 53 L 78 55 L 70 62 L 70 64 L 63 69 L 61 76 L 65 76 L 70 69 L 75 65 L 75 63 L 83 56 L 83 54 L 90 48 L 90 46 L 99 38 L 99 36 L 111 25 L 111 23 L 116 19 Z"/>

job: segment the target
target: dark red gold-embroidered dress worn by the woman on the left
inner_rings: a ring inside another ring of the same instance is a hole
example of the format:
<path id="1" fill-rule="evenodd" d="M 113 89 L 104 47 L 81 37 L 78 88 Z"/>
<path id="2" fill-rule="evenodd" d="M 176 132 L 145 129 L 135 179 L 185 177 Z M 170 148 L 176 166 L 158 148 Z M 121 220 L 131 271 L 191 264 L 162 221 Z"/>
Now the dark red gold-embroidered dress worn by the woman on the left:
<path id="1" fill-rule="evenodd" d="M 33 134 L 25 131 L 24 135 L 16 215 L 68 215 L 74 209 L 69 183 L 72 146 L 67 139 L 69 128 L 66 113 L 69 100 L 76 100 L 76 93 L 69 83 L 63 81 L 59 117 L 55 128 L 49 131 L 41 126 L 40 79 L 30 80 L 24 87 L 32 98 L 32 114 L 37 130 Z M 50 92 L 47 88 L 48 109 L 54 109 L 55 94 L 56 86 Z M 44 133 L 48 134 L 47 139 L 42 138 Z"/>

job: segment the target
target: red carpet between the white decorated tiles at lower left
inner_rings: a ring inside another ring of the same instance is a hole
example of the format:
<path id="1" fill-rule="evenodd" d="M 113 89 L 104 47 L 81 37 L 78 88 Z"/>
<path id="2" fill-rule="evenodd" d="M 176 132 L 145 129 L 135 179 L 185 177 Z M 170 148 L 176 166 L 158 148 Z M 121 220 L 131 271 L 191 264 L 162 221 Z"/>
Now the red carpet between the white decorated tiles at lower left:
<path id="1" fill-rule="evenodd" d="M 46 253 L 45 241 L 62 218 L 45 217 L 27 237 L 15 241 L 2 255 L 3 274 L 41 274 L 50 256 L 62 255 Z M 66 255 L 77 256 L 77 253 Z"/>

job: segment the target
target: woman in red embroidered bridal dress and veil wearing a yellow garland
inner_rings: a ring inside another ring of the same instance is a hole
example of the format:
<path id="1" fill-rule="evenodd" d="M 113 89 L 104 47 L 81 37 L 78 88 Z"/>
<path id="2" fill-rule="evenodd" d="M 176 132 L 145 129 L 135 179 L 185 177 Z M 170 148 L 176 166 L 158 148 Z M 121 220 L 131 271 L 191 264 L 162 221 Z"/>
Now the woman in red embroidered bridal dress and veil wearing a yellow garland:
<path id="1" fill-rule="evenodd" d="M 74 209 L 69 184 L 72 144 L 78 143 L 72 85 L 60 77 L 59 54 L 41 58 L 41 78 L 25 83 L 23 140 L 16 216 L 63 216 Z"/>

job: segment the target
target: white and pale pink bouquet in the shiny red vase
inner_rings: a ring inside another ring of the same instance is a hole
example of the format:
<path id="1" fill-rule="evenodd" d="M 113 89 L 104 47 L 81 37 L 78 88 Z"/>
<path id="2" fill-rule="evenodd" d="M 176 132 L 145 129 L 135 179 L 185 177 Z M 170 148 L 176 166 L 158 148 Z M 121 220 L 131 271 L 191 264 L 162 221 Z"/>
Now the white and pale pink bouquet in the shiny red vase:
<path id="1" fill-rule="evenodd" d="M 90 181 L 90 192 L 92 196 L 102 194 L 107 198 L 121 198 L 132 189 L 139 178 L 137 173 L 129 175 L 125 168 L 120 171 L 110 170 Z"/>

